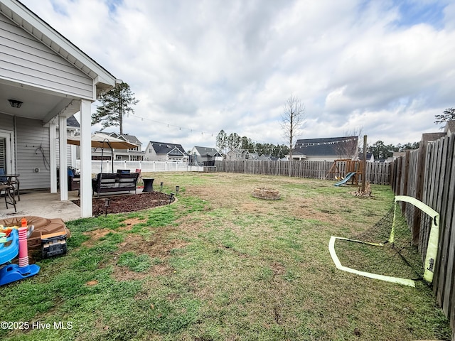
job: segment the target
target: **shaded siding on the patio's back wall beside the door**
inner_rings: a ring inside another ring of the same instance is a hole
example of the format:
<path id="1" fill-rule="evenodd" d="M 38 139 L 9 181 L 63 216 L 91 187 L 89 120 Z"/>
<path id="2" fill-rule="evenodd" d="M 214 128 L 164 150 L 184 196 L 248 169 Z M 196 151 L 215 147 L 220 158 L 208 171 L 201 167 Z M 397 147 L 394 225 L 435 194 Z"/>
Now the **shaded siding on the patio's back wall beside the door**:
<path id="1" fill-rule="evenodd" d="M 49 129 L 40 120 L 16 118 L 17 173 L 21 190 L 50 188 Z M 39 168 L 38 173 L 34 172 Z"/>

